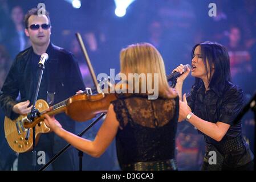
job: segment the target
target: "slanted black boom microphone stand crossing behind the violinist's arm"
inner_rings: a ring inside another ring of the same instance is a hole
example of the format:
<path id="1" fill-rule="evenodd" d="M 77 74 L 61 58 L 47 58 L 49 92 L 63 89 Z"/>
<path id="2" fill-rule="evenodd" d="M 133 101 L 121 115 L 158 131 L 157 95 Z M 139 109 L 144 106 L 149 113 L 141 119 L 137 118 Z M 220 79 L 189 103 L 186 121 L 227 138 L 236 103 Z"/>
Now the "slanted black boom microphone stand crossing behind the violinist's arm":
<path id="1" fill-rule="evenodd" d="M 89 125 L 86 129 L 84 129 L 82 131 L 82 133 L 78 134 L 78 137 L 82 137 L 84 133 L 86 133 L 86 131 L 90 130 L 92 126 L 94 126 L 101 118 L 104 117 L 106 113 L 102 113 L 94 122 L 91 123 L 91 125 Z M 43 171 L 44 169 L 46 169 L 52 162 L 54 162 L 64 151 L 66 151 L 69 147 L 71 146 L 71 144 L 67 144 L 62 150 L 60 150 L 58 152 L 58 154 L 56 154 L 47 164 L 45 164 L 42 168 L 39 169 L 39 171 Z M 79 151 L 79 171 L 82 171 L 82 159 L 83 159 L 83 152 Z"/>

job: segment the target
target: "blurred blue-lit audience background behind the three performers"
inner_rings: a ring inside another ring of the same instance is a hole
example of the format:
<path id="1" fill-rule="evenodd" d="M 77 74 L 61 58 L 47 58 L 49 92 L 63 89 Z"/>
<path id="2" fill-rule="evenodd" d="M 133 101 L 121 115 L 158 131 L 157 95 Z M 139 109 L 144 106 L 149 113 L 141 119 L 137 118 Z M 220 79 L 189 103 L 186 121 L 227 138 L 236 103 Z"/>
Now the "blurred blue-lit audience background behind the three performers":
<path id="1" fill-rule="evenodd" d="M 23 17 L 31 5 L 21 1 L 11 2 L 0 0 L 0 89 L 15 56 L 30 46 L 29 38 L 24 33 Z M 216 17 L 208 15 L 210 2 L 217 5 Z M 54 43 L 74 53 L 86 86 L 92 86 L 92 79 L 75 32 L 82 34 L 95 72 L 107 74 L 109 68 L 119 68 L 119 51 L 127 44 L 152 43 L 162 54 L 166 73 L 169 73 L 181 63 L 190 64 L 194 44 L 205 40 L 219 42 L 229 51 L 233 82 L 245 92 L 245 102 L 255 92 L 256 0 L 137 0 L 128 7 L 127 15 L 123 18 L 113 14 L 115 3 L 112 0 L 82 3 L 84 9 L 78 14 L 63 14 L 68 17 L 56 20 L 55 13 L 50 10 L 50 16 L 55 22 L 52 24 L 55 28 L 52 34 Z M 52 6 L 51 1 L 46 6 Z M 61 26 L 68 21 L 73 26 Z M 185 89 L 190 88 L 193 80 L 188 78 L 187 83 Z M 3 118 L 2 115 L 1 121 Z M 245 137 L 253 150 L 253 116 L 246 115 L 243 125 Z M 204 150 L 204 142 L 194 128 L 179 128 L 177 155 L 181 168 L 183 165 L 184 169 L 197 169 L 200 154 L 204 154 L 200 152 Z M 3 132 L 0 133 L 2 140 Z M 191 162 L 191 159 L 195 162 Z"/>

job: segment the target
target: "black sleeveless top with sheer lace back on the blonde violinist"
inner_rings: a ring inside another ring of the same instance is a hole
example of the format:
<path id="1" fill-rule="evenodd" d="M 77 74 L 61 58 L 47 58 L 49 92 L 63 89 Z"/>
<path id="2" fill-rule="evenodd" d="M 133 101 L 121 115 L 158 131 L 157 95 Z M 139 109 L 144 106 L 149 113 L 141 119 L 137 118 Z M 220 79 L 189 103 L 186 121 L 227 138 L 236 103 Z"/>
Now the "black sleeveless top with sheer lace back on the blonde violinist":
<path id="1" fill-rule="evenodd" d="M 112 104 L 120 123 L 116 150 L 121 169 L 137 162 L 174 159 L 178 97 L 148 100 L 135 94 Z"/>

